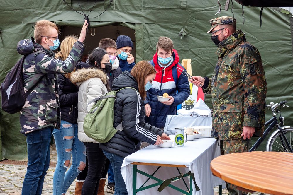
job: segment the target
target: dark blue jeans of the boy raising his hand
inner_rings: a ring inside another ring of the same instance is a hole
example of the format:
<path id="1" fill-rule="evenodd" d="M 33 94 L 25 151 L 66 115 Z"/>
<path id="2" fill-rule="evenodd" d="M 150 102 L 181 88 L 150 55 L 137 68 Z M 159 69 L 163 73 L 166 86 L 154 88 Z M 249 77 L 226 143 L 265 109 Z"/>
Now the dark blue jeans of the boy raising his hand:
<path id="1" fill-rule="evenodd" d="M 32 131 L 26 136 L 28 167 L 21 194 L 42 194 L 44 178 L 50 165 L 50 141 L 53 127 Z"/>

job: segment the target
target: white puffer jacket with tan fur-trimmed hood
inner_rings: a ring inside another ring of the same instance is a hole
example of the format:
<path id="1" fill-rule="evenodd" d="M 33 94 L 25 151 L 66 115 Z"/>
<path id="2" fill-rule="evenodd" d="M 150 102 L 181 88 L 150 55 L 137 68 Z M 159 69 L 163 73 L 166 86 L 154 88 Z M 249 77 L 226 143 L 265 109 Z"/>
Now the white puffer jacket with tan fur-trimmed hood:
<path id="1" fill-rule="evenodd" d="M 70 80 L 72 83 L 77 84 L 79 86 L 78 91 L 78 117 L 77 117 L 77 125 L 78 125 L 78 139 L 82 142 L 94 142 L 97 141 L 89 138 L 83 130 L 84 117 L 87 114 L 87 104 L 101 95 L 106 94 L 106 74 L 94 68 L 83 68 L 71 74 Z M 94 103 L 88 106 L 88 110 L 93 106 Z"/>

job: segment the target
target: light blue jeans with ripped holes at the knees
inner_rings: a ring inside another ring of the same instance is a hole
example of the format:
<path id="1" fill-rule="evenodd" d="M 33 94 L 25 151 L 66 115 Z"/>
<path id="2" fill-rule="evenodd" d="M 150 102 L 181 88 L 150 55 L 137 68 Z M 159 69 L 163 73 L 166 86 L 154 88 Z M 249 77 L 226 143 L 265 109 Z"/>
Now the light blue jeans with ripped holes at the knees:
<path id="1" fill-rule="evenodd" d="M 74 179 L 84 169 L 86 150 L 84 144 L 77 138 L 77 124 L 61 120 L 60 130 L 54 129 L 53 136 L 57 150 L 53 194 L 61 195 L 66 193 Z M 71 155 L 72 165 L 68 169 Z"/>

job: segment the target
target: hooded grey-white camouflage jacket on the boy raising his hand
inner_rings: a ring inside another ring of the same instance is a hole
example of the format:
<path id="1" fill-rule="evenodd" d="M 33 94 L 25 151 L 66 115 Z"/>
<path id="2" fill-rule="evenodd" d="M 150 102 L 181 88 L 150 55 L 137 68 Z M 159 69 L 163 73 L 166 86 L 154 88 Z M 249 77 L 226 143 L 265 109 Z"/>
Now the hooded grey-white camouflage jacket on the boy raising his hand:
<path id="1" fill-rule="evenodd" d="M 34 88 L 20 112 L 20 132 L 27 134 L 49 126 L 59 129 L 61 112 L 57 74 L 73 71 L 84 51 L 83 44 L 74 43 L 65 61 L 55 59 L 53 52 L 31 39 L 18 42 L 17 51 L 27 55 L 23 64 L 24 90 L 28 92 Z"/>

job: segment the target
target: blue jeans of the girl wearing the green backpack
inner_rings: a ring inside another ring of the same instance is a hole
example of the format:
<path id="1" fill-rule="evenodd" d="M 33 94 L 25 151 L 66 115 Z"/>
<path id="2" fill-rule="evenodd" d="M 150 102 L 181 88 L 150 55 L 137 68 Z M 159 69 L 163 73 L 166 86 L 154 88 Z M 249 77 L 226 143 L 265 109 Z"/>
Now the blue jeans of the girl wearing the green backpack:
<path id="1" fill-rule="evenodd" d="M 113 168 L 114 179 L 115 179 L 114 195 L 128 195 L 126 185 L 120 171 L 124 157 L 107 152 L 105 150 L 103 150 L 103 152 L 105 156 L 110 160 L 112 168 Z"/>

